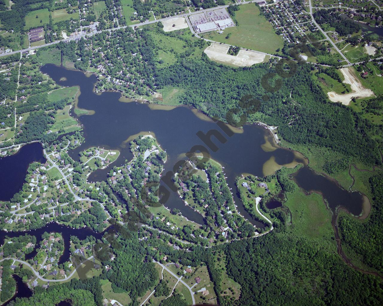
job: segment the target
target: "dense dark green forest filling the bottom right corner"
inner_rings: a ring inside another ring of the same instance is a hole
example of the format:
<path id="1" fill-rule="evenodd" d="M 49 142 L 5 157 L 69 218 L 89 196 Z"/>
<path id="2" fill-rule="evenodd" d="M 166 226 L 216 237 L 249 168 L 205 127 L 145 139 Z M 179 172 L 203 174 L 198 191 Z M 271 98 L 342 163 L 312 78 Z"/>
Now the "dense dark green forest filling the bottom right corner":
<path id="1" fill-rule="evenodd" d="M 383 298 L 380 278 L 291 233 L 273 231 L 223 249 L 228 275 L 241 285 L 235 305 L 377 305 Z"/>

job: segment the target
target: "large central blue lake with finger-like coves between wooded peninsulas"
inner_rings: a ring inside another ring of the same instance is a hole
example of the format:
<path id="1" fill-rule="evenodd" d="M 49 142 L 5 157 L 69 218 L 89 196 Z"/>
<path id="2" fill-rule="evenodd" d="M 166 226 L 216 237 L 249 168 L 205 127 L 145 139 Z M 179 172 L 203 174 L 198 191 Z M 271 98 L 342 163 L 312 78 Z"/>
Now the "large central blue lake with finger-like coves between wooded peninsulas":
<path id="1" fill-rule="evenodd" d="M 129 150 L 129 142 L 132 139 L 129 137 L 132 135 L 150 132 L 157 138 L 161 147 L 167 152 L 164 173 L 173 171 L 173 166 L 177 161 L 184 159 L 185 153 L 190 151 L 193 146 L 203 145 L 208 148 L 211 158 L 224 167 L 224 173 L 229 187 L 232 188 L 239 212 L 253 225 L 262 227 L 262 223 L 253 220 L 245 211 L 237 197 L 236 176 L 240 176 L 242 173 L 264 176 L 265 172 L 273 173 L 282 165 L 303 162 L 303 159 L 294 151 L 267 144 L 270 139 L 273 141 L 273 135 L 259 125 L 245 125 L 242 133 L 234 133 L 229 137 L 213 120 L 201 113 L 196 116 L 195 110 L 193 112 L 190 107 L 180 106 L 165 110 L 166 107 L 157 108 L 147 103 L 135 101 L 124 103 L 118 92 L 96 94 L 93 91 L 97 82 L 96 75 L 85 75 L 83 72 L 52 64 L 44 65 L 41 67 L 41 71 L 48 74 L 61 86 L 79 86 L 77 107 L 94 111 L 92 115 L 79 116 L 80 124 L 83 125 L 85 142 L 69 152 L 70 156 L 74 160 L 79 160 L 79 152 L 92 146 L 120 151 L 119 158 L 111 166 L 93 172 L 88 177 L 88 181 L 105 180 L 113 166 L 120 166 L 125 160 L 133 158 Z M 75 116 L 74 113 L 72 115 Z M 217 130 L 223 135 L 224 140 L 219 141 L 212 136 L 213 144 L 210 143 L 209 148 L 196 133 L 201 131 L 206 134 L 210 130 Z M 267 150 L 262 148 L 265 143 Z M 214 145 L 216 148 L 213 147 Z M 267 164 L 267 169 L 264 169 L 265 164 Z M 164 186 L 170 192 L 170 197 L 164 204 L 165 207 L 178 208 L 182 215 L 189 220 L 204 224 L 203 217 L 185 206 L 177 192 L 172 192 L 169 187 Z"/>

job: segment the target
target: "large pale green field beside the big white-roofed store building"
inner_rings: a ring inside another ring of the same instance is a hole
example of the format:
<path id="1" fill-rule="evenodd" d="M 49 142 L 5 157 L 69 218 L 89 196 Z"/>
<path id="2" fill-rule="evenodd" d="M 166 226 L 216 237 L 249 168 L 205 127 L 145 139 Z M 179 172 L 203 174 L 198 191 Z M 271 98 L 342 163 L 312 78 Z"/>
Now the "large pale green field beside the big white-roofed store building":
<path id="1" fill-rule="evenodd" d="M 278 48 L 282 49 L 282 38 L 275 34 L 272 25 L 259 13 L 254 3 L 240 5 L 234 17 L 239 26 L 224 29 L 223 34 L 213 31 L 203 36 L 213 41 L 274 54 Z M 231 35 L 226 39 L 229 33 Z"/>

